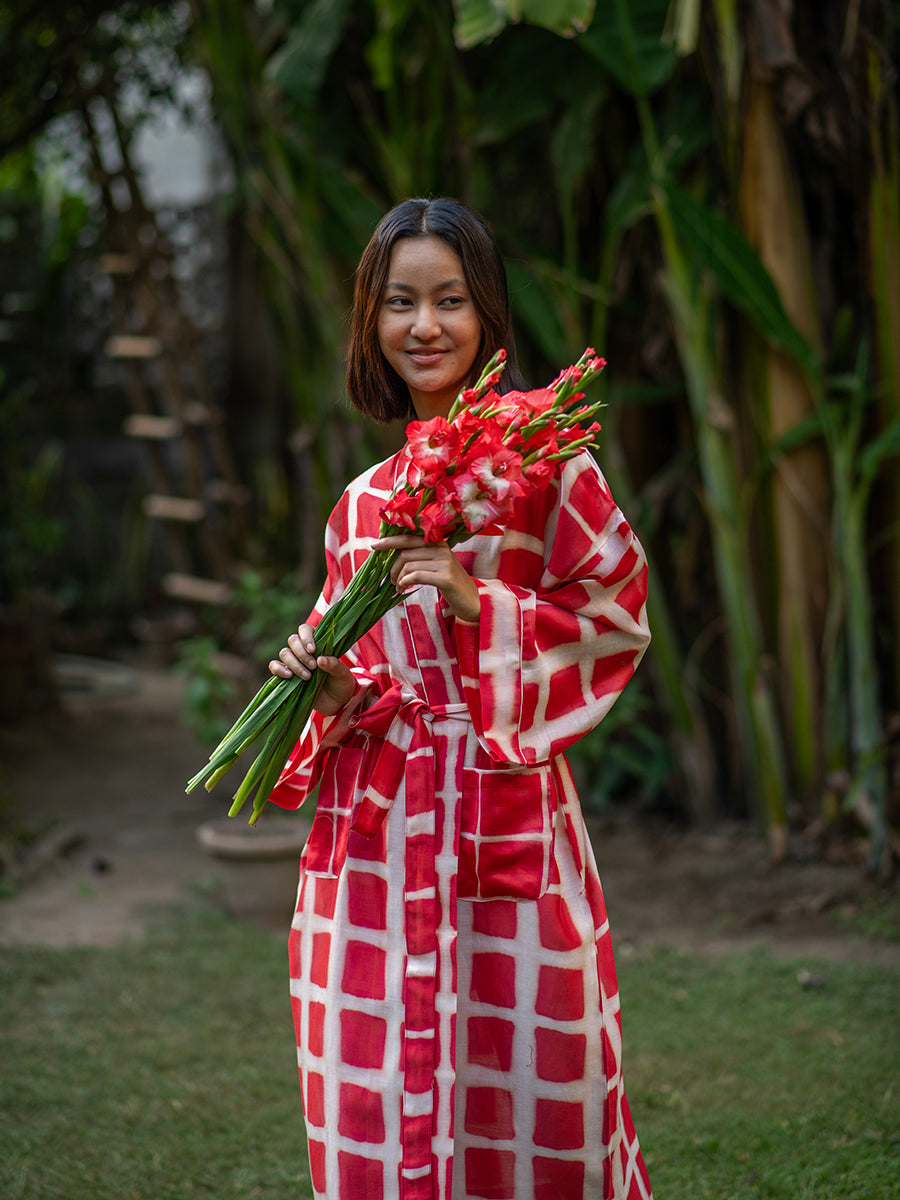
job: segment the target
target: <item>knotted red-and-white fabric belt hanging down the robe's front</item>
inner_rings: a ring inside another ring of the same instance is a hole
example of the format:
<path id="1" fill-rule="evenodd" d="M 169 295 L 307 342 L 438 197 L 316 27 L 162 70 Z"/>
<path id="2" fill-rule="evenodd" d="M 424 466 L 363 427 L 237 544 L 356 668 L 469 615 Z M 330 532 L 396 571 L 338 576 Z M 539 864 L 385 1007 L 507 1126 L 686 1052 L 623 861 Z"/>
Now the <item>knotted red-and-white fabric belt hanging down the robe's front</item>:
<path id="1" fill-rule="evenodd" d="M 440 906 L 432 724 L 443 719 L 472 720 L 466 704 L 427 704 L 401 684 L 349 719 L 354 733 L 370 738 L 358 784 L 362 799 L 353 821 L 358 833 L 371 838 L 378 832 L 406 778 L 402 1200 L 433 1195 Z"/>

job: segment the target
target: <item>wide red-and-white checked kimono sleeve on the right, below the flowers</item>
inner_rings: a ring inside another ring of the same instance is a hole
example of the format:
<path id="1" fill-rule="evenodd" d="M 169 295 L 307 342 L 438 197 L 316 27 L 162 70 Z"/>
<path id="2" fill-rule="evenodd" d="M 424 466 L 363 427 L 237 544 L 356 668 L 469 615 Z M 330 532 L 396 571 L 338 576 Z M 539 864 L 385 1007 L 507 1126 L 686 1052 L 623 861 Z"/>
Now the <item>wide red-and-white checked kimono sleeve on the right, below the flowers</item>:
<path id="1" fill-rule="evenodd" d="M 548 493 L 498 577 L 476 580 L 480 619 L 456 622 L 475 732 L 503 763 L 546 762 L 598 725 L 650 640 L 647 560 L 594 458 L 570 460 Z M 529 554 L 536 588 L 522 582 Z"/>

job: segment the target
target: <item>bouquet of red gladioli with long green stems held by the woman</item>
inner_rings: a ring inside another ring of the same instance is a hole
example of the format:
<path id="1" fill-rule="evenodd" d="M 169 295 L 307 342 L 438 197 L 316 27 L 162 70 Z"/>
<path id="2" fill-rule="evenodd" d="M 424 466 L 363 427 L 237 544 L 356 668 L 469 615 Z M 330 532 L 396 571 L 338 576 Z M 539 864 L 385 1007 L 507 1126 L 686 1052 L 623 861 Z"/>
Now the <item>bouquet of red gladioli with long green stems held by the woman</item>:
<path id="1" fill-rule="evenodd" d="M 577 389 L 602 371 L 604 359 L 587 349 L 550 386 L 500 395 L 494 388 L 505 359 L 506 352 L 499 350 L 474 388 L 460 392 L 446 418 L 408 425 L 406 473 L 380 510 L 382 538 L 412 530 L 427 542 L 445 540 L 452 546 L 474 533 L 499 530 L 518 497 L 546 487 L 554 463 L 593 442 L 600 426 L 592 422 L 582 428 L 581 422 L 601 406 L 583 404 Z M 397 551 L 372 551 L 316 628 L 318 654 L 341 658 L 403 601 L 390 578 L 396 556 Z M 236 816 L 254 793 L 250 823 L 256 824 L 324 680 L 322 671 L 310 679 L 272 676 L 186 791 L 202 782 L 211 791 L 235 760 L 260 742 L 229 810 L 229 816 Z"/>

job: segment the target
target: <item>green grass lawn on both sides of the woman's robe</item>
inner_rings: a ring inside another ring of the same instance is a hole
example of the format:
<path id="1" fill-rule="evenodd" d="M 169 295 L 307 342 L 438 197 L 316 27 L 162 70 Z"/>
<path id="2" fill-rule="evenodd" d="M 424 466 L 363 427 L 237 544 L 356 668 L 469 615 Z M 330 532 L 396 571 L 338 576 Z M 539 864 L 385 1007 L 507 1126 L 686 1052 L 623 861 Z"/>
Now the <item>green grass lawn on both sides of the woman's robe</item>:
<path id="1" fill-rule="evenodd" d="M 656 1200 L 900 1198 L 900 971 L 619 970 Z M 286 936 L 194 916 L 115 950 L 4 950 L 0 974 L 4 1200 L 311 1195 Z"/>

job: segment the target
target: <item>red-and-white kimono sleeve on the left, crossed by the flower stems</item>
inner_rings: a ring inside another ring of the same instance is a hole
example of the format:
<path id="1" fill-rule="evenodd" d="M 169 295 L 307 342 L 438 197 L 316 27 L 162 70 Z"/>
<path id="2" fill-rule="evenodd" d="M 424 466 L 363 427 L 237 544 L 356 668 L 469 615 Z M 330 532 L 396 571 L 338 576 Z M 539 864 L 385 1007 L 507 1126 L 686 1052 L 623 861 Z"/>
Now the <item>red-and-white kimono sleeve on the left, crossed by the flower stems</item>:
<path id="1" fill-rule="evenodd" d="M 325 528 L 325 564 L 328 574 L 316 606 L 306 619 L 318 625 L 324 614 L 343 594 L 353 574 L 368 553 L 368 546 L 356 539 L 350 529 L 352 502 L 349 492 L 338 500 Z M 356 679 L 356 692 L 342 709 L 331 716 L 313 712 L 284 764 L 269 799 L 282 809 L 298 809 L 319 782 L 326 751 L 340 745 L 350 732 L 350 722 L 371 696 L 374 676 L 359 661 L 355 647 L 343 661 Z"/>

